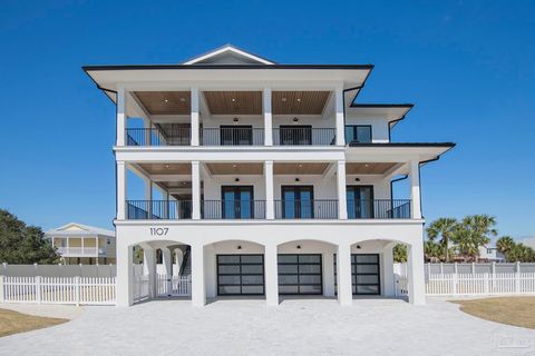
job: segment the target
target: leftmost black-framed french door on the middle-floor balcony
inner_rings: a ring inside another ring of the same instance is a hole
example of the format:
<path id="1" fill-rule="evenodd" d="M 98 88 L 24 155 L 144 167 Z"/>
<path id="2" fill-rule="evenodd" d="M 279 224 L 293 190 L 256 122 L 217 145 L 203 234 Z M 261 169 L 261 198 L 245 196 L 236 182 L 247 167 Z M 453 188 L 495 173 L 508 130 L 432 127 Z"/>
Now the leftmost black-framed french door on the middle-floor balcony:
<path id="1" fill-rule="evenodd" d="M 224 219 L 251 219 L 254 217 L 253 186 L 221 187 Z"/>

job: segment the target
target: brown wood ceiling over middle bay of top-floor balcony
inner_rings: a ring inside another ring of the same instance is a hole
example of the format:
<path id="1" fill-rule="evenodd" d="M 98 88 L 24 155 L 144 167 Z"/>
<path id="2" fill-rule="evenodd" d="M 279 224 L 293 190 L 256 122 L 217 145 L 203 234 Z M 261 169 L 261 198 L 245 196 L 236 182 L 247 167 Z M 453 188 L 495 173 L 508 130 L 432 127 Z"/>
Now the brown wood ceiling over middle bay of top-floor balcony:
<path id="1" fill-rule="evenodd" d="M 203 91 L 212 115 L 262 115 L 262 91 Z"/>

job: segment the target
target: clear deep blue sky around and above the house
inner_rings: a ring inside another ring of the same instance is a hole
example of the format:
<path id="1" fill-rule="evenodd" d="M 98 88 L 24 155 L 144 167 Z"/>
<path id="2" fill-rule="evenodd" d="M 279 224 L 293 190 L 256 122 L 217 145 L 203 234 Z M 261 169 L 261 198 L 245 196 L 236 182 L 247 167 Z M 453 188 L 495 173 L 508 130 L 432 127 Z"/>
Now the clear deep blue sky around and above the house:
<path id="1" fill-rule="evenodd" d="M 485 212 L 500 234 L 535 235 L 533 13 L 529 1 L 3 0 L 0 207 L 46 229 L 111 227 L 115 108 L 80 67 L 231 42 L 282 63 L 376 65 L 360 102 L 416 103 L 395 141 L 458 144 L 422 168 L 427 219 Z"/>

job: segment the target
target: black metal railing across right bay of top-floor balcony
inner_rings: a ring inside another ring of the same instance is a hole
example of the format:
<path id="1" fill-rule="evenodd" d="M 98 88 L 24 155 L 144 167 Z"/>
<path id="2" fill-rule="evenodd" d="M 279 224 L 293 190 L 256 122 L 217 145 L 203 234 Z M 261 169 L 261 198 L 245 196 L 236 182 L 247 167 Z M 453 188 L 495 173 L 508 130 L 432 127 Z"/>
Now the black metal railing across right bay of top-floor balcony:
<path id="1" fill-rule="evenodd" d="M 337 129 L 333 128 L 274 128 L 274 146 L 332 146 L 337 145 Z"/>

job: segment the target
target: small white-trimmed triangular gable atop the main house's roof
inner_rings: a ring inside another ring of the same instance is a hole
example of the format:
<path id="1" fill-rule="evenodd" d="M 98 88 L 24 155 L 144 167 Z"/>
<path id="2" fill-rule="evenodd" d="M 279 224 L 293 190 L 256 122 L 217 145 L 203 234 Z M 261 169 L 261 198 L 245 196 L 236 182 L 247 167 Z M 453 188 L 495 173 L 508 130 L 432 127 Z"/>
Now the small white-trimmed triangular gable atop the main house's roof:
<path id="1" fill-rule="evenodd" d="M 182 65 L 213 65 L 216 62 L 221 63 L 221 60 L 224 58 L 234 58 L 236 65 L 244 65 L 244 63 L 255 63 L 255 65 L 275 65 L 274 61 L 262 58 L 257 55 L 253 55 L 247 52 L 243 49 L 240 49 L 232 44 L 225 44 L 220 48 L 213 49 L 206 53 L 195 56 L 183 62 Z M 228 62 L 226 62 L 228 63 Z M 232 62 L 230 62 L 232 65 Z"/>

